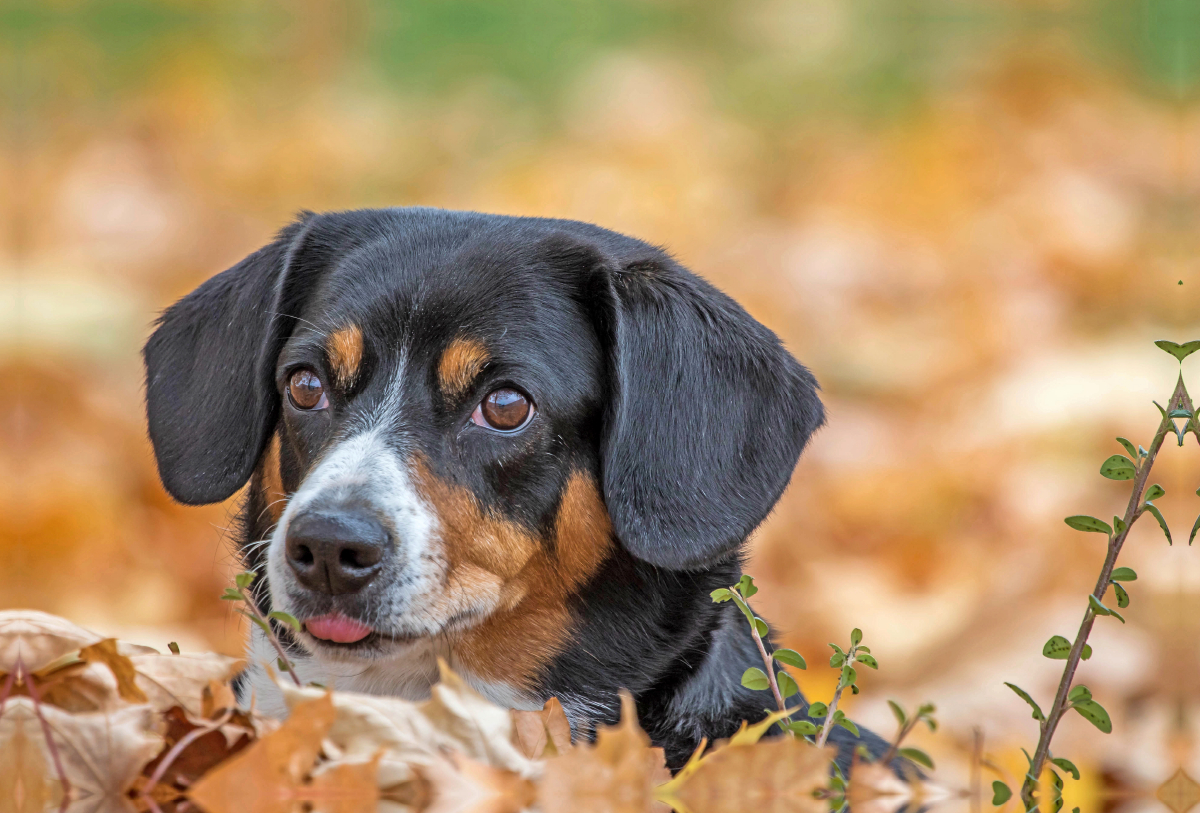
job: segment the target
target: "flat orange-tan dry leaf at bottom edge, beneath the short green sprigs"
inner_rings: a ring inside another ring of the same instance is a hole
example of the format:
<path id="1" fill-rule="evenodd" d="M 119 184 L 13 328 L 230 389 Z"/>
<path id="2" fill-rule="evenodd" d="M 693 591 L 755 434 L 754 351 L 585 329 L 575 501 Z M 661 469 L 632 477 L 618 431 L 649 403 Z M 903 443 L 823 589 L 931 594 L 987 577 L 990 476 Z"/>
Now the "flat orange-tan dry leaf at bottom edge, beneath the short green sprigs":
<path id="1" fill-rule="evenodd" d="M 680 771 L 659 797 L 679 813 L 820 813 L 812 791 L 829 784 L 833 748 L 793 737 L 727 745 Z"/>

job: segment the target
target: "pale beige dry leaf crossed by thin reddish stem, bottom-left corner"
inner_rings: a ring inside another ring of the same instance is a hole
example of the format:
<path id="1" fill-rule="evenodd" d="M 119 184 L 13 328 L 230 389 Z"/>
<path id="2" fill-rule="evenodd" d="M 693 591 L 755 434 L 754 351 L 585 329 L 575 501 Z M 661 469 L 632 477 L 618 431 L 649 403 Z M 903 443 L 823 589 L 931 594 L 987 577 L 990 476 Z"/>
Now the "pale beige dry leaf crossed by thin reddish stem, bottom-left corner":
<path id="1" fill-rule="evenodd" d="M 70 783 L 68 813 L 131 813 L 128 790 L 162 748 L 161 723 L 154 710 L 142 705 L 73 715 L 42 704 L 41 711 Z M 32 700 L 10 698 L 0 722 L 7 727 L 11 719 L 41 751 L 42 760 L 53 765 Z M 49 773 L 56 778 L 53 769 Z"/>

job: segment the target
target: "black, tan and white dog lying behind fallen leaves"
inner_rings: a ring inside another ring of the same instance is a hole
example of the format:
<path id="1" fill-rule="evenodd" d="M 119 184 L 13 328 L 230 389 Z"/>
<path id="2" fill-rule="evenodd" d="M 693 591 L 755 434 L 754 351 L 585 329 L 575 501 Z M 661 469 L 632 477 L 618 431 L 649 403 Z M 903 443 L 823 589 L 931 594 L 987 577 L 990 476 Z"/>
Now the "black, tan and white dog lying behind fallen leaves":
<path id="1" fill-rule="evenodd" d="M 442 657 L 576 737 L 619 691 L 678 770 L 774 706 L 737 583 L 824 412 L 812 374 L 665 251 L 565 219 L 302 213 L 162 313 L 163 486 L 248 482 L 240 554 L 299 676 L 420 699 Z M 239 682 L 282 713 L 258 631 Z M 803 698 L 792 703 L 805 707 Z M 842 761 L 859 741 L 834 728 Z"/>

